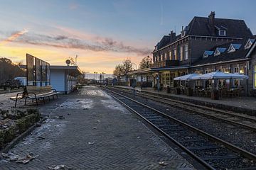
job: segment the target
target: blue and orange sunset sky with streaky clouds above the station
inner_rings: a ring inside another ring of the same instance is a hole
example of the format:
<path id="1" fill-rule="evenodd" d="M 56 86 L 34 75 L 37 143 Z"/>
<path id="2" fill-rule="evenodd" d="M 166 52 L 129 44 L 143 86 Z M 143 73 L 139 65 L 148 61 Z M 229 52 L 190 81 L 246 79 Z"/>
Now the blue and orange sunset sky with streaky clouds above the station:
<path id="1" fill-rule="evenodd" d="M 26 53 L 50 64 L 78 55 L 85 72 L 112 73 L 130 59 L 139 65 L 171 30 L 193 16 L 245 20 L 256 33 L 256 1 L 9 0 L 0 1 L 0 57 L 26 64 Z"/>

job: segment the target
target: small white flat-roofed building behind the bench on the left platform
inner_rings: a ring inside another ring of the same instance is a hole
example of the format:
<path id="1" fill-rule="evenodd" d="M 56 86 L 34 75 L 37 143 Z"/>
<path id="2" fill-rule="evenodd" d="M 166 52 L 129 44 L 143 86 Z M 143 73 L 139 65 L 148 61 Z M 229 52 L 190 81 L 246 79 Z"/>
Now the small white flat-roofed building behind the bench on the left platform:
<path id="1" fill-rule="evenodd" d="M 78 66 L 50 65 L 50 86 L 64 94 L 69 94 L 82 74 Z"/>

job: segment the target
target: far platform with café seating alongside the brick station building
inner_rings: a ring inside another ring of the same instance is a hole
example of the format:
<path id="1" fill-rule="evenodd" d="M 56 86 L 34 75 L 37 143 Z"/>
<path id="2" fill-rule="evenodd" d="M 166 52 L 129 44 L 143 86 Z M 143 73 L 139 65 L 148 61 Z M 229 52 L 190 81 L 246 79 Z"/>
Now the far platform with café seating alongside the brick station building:
<path id="1" fill-rule="evenodd" d="M 131 86 L 115 86 L 122 89 L 133 89 Z M 234 98 L 220 98 L 219 100 L 213 100 L 207 97 L 198 96 L 186 96 L 177 94 L 167 94 L 166 91 L 155 91 L 153 88 L 135 88 L 137 91 L 142 91 L 147 94 L 153 94 L 156 96 L 162 96 L 166 98 L 173 98 L 178 101 L 186 101 L 203 106 L 209 106 L 213 108 L 220 108 L 226 111 L 234 111 L 240 113 L 246 113 L 248 115 L 256 115 L 256 98 L 255 97 L 234 97 Z"/>

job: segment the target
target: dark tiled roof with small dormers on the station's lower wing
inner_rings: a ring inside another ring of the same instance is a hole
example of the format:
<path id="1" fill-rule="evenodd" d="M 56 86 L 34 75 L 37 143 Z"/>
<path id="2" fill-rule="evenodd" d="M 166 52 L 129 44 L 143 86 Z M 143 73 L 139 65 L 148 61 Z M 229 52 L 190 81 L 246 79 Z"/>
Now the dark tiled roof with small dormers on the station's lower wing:
<path id="1" fill-rule="evenodd" d="M 251 38 L 256 38 L 256 35 L 253 35 Z M 245 58 L 247 55 L 247 52 L 250 50 L 250 48 L 245 49 L 245 44 L 247 42 L 248 38 L 244 38 L 242 40 L 236 40 L 233 42 L 228 42 L 223 45 L 218 45 L 210 49 L 210 51 L 214 51 L 216 48 L 226 48 L 230 46 L 230 44 L 240 44 L 241 47 L 238 50 L 235 50 L 235 52 L 228 52 L 228 50 L 225 50 L 225 52 L 221 53 L 218 56 L 214 55 L 209 55 L 208 57 L 200 57 L 200 59 L 196 62 L 193 63 L 193 66 L 196 65 L 202 65 L 202 64 L 210 64 L 210 63 L 215 63 L 215 62 L 228 62 L 231 60 L 240 60 Z M 208 50 L 208 49 L 206 49 Z"/>

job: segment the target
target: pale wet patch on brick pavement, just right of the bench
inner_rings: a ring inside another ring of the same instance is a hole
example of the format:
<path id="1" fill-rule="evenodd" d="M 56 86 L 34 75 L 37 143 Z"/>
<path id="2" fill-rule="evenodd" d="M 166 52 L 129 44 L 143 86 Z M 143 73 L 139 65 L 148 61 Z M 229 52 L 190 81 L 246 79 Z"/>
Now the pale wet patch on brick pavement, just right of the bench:
<path id="1" fill-rule="evenodd" d="M 81 109 L 81 108 L 92 108 L 92 106 L 93 106 L 93 101 L 90 98 L 69 98 L 67 101 L 60 104 L 58 108 Z"/>

